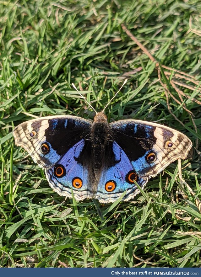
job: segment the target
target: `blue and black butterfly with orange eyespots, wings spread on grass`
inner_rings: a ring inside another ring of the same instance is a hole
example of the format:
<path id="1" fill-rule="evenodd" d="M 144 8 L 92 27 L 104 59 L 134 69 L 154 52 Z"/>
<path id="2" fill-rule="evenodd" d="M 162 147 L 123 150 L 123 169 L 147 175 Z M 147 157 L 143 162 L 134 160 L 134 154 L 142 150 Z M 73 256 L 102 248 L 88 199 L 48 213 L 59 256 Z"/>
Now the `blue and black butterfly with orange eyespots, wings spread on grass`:
<path id="1" fill-rule="evenodd" d="M 108 124 L 98 113 L 95 121 L 75 116 L 34 119 L 14 129 L 22 146 L 41 168 L 59 195 L 76 200 L 95 198 L 101 203 L 128 201 L 149 178 L 168 164 L 185 159 L 189 138 L 169 127 L 140 120 Z"/>

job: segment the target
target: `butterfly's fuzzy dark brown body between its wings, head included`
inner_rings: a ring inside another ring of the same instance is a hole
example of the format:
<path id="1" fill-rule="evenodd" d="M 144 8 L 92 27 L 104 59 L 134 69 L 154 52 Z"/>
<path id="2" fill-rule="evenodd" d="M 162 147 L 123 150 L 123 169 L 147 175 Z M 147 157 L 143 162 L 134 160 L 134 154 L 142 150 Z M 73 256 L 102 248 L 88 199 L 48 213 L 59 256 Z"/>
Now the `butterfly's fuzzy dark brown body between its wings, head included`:
<path id="1" fill-rule="evenodd" d="M 98 179 L 102 167 L 106 143 L 108 142 L 110 126 L 104 113 L 95 115 L 91 130 L 92 141 L 92 163 L 95 177 Z"/>

